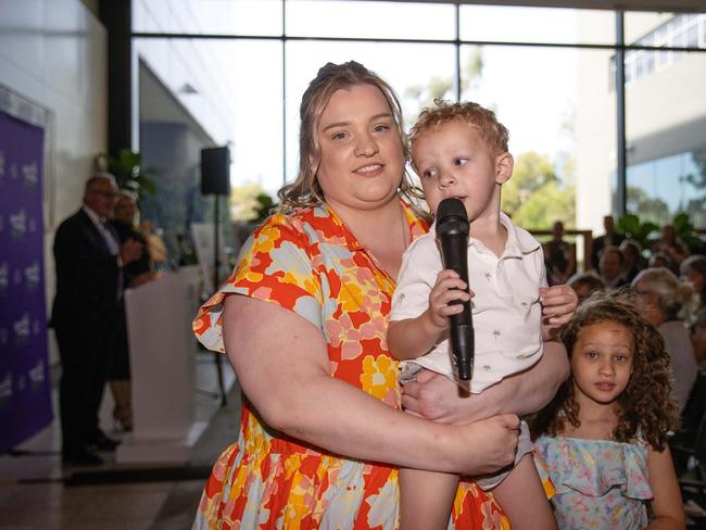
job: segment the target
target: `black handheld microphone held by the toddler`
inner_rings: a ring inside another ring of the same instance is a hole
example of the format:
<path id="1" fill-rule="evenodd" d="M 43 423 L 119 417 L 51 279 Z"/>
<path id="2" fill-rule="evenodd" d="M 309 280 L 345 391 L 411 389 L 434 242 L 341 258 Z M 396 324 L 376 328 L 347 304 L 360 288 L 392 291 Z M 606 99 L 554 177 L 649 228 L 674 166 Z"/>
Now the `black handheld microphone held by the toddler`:
<path id="1" fill-rule="evenodd" d="M 441 258 L 446 269 L 455 270 L 466 282 L 468 291 L 468 215 L 466 206 L 459 199 L 449 198 L 439 203 L 437 209 L 437 239 L 441 244 Z M 474 366 L 474 326 L 470 302 L 455 300 L 464 311 L 451 315 L 451 351 L 458 369 L 458 379 L 470 380 Z"/>

